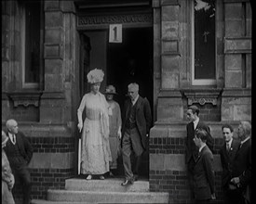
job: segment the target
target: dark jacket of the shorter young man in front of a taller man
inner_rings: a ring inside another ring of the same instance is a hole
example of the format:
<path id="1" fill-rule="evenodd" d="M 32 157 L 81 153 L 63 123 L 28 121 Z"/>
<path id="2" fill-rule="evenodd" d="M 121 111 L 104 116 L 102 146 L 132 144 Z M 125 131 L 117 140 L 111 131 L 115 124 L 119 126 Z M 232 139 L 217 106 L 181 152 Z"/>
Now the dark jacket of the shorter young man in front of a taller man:
<path id="1" fill-rule="evenodd" d="M 195 161 L 194 193 L 196 200 L 210 199 L 215 192 L 213 155 L 208 146 L 202 148 Z"/>

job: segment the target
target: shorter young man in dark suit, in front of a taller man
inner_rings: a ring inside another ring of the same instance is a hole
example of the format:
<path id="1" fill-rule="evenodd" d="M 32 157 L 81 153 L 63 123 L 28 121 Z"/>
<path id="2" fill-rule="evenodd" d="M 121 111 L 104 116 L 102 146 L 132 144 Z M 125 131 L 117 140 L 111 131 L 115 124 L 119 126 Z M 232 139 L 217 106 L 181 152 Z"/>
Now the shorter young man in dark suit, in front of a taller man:
<path id="1" fill-rule="evenodd" d="M 208 133 L 197 129 L 195 146 L 198 147 L 198 157 L 194 168 L 194 195 L 195 203 L 209 203 L 215 199 L 213 155 L 206 144 Z"/>

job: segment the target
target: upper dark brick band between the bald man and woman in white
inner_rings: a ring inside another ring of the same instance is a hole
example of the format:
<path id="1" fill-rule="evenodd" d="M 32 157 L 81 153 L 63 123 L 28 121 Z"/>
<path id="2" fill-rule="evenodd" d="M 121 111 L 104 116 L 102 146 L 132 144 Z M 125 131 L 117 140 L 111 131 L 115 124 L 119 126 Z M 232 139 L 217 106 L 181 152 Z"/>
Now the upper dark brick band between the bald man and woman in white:
<path id="1" fill-rule="evenodd" d="M 37 153 L 74 152 L 74 137 L 30 137 L 29 140 Z"/>

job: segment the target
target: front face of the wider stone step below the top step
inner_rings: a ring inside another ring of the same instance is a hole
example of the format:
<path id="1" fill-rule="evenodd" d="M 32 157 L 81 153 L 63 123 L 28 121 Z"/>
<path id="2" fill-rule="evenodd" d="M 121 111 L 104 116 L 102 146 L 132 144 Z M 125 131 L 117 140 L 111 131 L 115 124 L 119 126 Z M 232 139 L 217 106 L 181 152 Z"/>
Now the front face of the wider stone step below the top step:
<path id="1" fill-rule="evenodd" d="M 168 203 L 168 194 L 164 193 L 93 193 L 93 192 L 56 192 L 48 191 L 47 200 L 75 201 L 91 203 Z"/>

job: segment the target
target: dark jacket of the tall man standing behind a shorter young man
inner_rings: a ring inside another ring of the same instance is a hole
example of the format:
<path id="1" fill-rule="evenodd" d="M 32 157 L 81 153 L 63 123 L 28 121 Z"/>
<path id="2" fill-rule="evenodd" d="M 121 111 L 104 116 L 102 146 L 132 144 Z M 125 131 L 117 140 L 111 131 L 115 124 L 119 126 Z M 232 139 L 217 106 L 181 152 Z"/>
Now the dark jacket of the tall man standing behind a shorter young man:
<path id="1" fill-rule="evenodd" d="M 196 129 L 203 129 L 208 133 L 207 146 L 211 151 L 213 150 L 213 139 L 210 134 L 209 126 L 205 122 L 199 120 L 196 128 L 194 129 L 194 123 L 193 121 L 191 121 L 187 124 L 186 129 L 187 129 L 186 154 L 185 154 L 186 163 L 188 163 L 190 159 L 196 160 L 198 155 L 198 147 L 195 146 L 195 142 L 193 140 L 195 137 Z"/>

